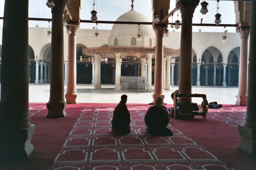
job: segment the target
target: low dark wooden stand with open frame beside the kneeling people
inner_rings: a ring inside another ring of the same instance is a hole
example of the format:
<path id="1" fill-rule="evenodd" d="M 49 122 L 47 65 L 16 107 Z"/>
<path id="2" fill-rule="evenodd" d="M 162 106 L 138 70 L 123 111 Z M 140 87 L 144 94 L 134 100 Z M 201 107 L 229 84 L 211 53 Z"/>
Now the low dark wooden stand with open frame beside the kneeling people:
<path id="1" fill-rule="evenodd" d="M 203 108 L 202 112 L 195 112 L 194 106 L 191 104 L 180 104 L 177 106 L 176 98 L 203 98 L 202 105 L 197 105 Z M 180 116 L 203 116 L 206 119 L 206 94 L 173 94 L 173 118 L 176 118 L 176 108 L 179 107 L 179 115 Z"/>

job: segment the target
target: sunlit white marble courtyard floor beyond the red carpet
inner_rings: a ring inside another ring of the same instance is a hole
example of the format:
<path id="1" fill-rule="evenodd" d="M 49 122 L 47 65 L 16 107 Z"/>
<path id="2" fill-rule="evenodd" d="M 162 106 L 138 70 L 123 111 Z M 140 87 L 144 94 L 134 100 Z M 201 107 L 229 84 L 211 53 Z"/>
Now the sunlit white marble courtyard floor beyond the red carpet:
<path id="1" fill-rule="evenodd" d="M 177 86 L 171 87 L 170 91 L 163 91 L 165 102 L 171 104 L 172 91 L 178 89 Z M 66 85 L 65 85 L 66 93 Z M 114 85 L 102 85 L 101 90 L 94 90 L 92 85 L 77 85 L 77 102 L 85 103 L 118 103 L 120 96 L 126 94 L 128 103 L 148 104 L 152 102 L 152 92 L 147 91 L 115 91 Z M 235 104 L 235 95 L 238 93 L 237 87 L 192 87 L 192 93 L 206 94 L 208 102 L 217 101 L 219 104 Z M 30 84 L 29 102 L 48 102 L 50 96 L 49 84 Z M 193 102 L 201 103 L 202 98 L 192 98 Z"/>

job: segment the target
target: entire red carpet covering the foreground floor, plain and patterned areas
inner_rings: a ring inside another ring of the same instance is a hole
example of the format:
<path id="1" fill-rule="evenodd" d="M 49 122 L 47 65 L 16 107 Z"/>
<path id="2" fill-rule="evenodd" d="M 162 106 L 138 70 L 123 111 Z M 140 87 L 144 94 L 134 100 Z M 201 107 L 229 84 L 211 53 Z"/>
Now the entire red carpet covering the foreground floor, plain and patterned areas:
<path id="1" fill-rule="evenodd" d="M 67 105 L 66 118 L 45 118 L 45 104 L 30 104 L 35 151 L 9 169 L 61 170 L 253 170 L 256 159 L 237 150 L 246 107 L 209 109 L 206 120 L 170 120 L 174 136 L 145 134 L 150 105 L 128 104 L 131 133 L 111 133 L 116 104 Z M 168 105 L 168 108 L 171 105 Z M 8 169 L 8 168 L 7 168 Z"/>

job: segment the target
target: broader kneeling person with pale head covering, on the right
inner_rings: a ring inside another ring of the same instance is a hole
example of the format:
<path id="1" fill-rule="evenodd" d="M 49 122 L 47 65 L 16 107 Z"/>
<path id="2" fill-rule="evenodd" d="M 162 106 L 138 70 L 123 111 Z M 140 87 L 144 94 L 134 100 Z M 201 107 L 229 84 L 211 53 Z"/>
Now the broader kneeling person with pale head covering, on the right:
<path id="1" fill-rule="evenodd" d="M 169 123 L 167 108 L 162 105 L 163 98 L 158 96 L 153 106 L 149 107 L 145 115 L 146 130 L 152 135 L 172 136 L 170 129 L 166 128 Z"/>

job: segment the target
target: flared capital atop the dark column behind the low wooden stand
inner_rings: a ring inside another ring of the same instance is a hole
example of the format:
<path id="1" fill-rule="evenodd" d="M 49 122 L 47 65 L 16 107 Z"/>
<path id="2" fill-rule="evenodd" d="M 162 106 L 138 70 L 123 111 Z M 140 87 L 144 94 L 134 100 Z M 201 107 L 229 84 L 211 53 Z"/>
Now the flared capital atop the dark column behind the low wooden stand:
<path id="1" fill-rule="evenodd" d="M 176 7 L 181 12 L 181 18 L 193 18 L 195 8 L 199 4 L 200 0 L 177 0 Z"/>

